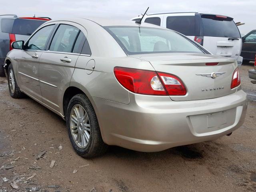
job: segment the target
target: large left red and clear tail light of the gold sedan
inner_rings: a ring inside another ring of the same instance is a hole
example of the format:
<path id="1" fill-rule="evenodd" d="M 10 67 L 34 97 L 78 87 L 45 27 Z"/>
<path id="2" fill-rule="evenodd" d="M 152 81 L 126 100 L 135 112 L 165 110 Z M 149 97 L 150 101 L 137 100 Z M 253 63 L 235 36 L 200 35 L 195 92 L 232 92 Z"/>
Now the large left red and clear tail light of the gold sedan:
<path id="1" fill-rule="evenodd" d="M 118 82 L 131 92 L 145 95 L 186 95 L 183 82 L 172 74 L 115 67 L 114 74 Z"/>

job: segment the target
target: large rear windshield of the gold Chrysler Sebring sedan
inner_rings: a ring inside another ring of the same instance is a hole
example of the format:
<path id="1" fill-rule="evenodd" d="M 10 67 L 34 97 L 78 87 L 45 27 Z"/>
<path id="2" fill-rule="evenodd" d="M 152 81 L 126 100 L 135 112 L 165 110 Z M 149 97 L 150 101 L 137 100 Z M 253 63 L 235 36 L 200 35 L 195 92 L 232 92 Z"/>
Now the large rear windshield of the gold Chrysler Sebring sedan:
<path id="1" fill-rule="evenodd" d="M 196 44 L 168 29 L 137 26 L 108 26 L 104 28 L 114 37 L 126 54 L 203 53 Z"/>

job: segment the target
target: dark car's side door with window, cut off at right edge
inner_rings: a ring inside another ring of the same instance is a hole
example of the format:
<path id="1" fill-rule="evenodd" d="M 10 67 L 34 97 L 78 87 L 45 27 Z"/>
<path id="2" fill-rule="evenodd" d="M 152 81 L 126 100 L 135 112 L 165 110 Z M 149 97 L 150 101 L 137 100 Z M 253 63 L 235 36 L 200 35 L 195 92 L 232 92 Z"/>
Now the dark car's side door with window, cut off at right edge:
<path id="1" fill-rule="evenodd" d="M 256 54 L 256 31 L 252 31 L 243 38 L 241 56 L 244 59 L 254 60 Z"/>

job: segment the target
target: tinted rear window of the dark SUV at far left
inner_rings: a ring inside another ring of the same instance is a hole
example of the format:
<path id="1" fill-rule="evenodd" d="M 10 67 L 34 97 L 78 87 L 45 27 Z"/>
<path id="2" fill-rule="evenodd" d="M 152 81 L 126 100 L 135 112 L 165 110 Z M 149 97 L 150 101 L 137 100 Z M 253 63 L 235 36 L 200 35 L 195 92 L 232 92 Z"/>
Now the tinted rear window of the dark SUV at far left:
<path id="1" fill-rule="evenodd" d="M 31 35 L 40 25 L 45 23 L 43 20 L 15 19 L 12 27 L 13 34 Z"/>

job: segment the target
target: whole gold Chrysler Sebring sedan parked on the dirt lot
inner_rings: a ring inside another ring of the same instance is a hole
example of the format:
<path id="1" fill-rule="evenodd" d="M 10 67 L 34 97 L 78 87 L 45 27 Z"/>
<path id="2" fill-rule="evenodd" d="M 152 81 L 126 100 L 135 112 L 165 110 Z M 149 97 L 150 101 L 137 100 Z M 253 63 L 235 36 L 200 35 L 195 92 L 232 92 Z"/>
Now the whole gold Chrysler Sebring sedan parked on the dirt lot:
<path id="1" fill-rule="evenodd" d="M 214 140 L 246 114 L 236 60 L 175 31 L 121 20 L 51 20 L 12 43 L 10 95 L 62 116 L 82 157 L 108 145 L 156 152 Z"/>

